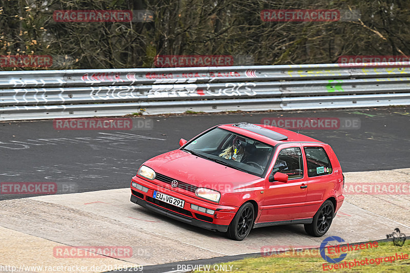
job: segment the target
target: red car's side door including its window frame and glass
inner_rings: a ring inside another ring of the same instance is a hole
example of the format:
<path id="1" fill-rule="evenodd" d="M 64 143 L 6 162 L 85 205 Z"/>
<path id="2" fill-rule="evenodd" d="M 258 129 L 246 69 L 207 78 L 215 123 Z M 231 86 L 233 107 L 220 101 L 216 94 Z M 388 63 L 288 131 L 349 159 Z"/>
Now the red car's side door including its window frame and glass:
<path id="1" fill-rule="evenodd" d="M 265 179 L 264 197 L 258 222 L 286 221 L 302 218 L 306 199 L 304 164 L 300 144 L 281 144 L 275 151 L 271 171 Z M 288 174 L 288 182 L 269 182 L 269 174 Z"/>

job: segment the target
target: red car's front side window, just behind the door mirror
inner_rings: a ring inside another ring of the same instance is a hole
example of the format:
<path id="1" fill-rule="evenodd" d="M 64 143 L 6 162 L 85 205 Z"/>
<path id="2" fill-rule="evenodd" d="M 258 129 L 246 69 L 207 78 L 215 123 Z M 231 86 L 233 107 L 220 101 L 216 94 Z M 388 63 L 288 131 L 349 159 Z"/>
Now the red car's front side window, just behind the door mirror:
<path id="1" fill-rule="evenodd" d="M 279 152 L 273 172 L 287 174 L 289 179 L 303 177 L 302 152 L 299 148 L 285 148 Z"/>

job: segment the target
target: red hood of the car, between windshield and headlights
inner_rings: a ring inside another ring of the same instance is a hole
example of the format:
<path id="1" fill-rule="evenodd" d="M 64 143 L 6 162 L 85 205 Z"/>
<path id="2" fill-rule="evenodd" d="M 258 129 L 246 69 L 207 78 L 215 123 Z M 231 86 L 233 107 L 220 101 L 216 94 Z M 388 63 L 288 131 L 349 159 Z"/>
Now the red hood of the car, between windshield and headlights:
<path id="1" fill-rule="evenodd" d="M 235 170 L 231 167 L 204 159 L 190 153 L 175 150 L 156 156 L 144 165 L 156 173 L 166 175 L 173 179 L 198 186 L 223 191 L 246 187 L 253 181 L 261 178 L 252 174 Z M 229 187 L 227 187 L 229 185 Z"/>

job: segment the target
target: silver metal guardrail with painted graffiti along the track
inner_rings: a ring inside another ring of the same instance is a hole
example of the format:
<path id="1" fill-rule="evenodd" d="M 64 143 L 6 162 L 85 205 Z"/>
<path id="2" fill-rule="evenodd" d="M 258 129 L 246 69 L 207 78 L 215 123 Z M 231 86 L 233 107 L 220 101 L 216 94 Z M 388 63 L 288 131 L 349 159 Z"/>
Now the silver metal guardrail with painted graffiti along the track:
<path id="1" fill-rule="evenodd" d="M 0 120 L 409 104 L 399 65 L 0 72 Z"/>

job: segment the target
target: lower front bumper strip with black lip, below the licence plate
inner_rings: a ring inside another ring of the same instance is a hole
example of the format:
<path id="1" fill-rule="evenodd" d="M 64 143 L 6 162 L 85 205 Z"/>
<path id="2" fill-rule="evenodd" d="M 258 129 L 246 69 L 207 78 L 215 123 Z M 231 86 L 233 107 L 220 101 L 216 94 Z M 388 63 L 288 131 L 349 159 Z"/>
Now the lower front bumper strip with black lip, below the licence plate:
<path id="1" fill-rule="evenodd" d="M 169 211 L 166 208 L 157 206 L 155 204 L 152 204 L 150 202 L 145 201 L 144 199 L 138 198 L 136 196 L 134 196 L 133 194 L 131 194 L 131 202 L 138 204 L 140 206 L 143 206 L 145 208 L 150 209 L 153 212 L 159 213 L 161 215 L 165 215 L 168 216 L 172 219 L 181 221 L 181 222 L 185 222 L 187 224 L 191 224 L 194 226 L 198 226 L 201 228 L 206 228 L 206 229 L 210 229 L 210 230 L 217 230 L 218 232 L 227 232 L 228 230 L 228 226 L 229 225 L 218 225 L 218 224 L 213 224 L 213 223 L 208 223 L 205 221 L 201 221 L 198 219 L 194 219 L 194 218 L 190 218 L 187 216 L 183 216 L 177 213 L 174 213 L 172 211 Z"/>

